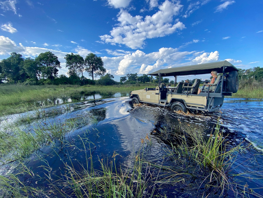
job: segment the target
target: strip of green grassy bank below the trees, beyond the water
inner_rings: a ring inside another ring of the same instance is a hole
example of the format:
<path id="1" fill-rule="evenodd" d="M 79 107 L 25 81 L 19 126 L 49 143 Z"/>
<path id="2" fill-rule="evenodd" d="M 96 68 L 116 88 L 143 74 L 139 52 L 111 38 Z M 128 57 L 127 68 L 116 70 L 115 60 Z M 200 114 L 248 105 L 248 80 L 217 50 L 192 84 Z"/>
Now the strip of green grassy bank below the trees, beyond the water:
<path id="1" fill-rule="evenodd" d="M 57 97 L 81 96 L 83 94 L 101 94 L 109 96 L 115 93 L 129 93 L 136 89 L 155 87 L 156 84 L 124 84 L 111 86 L 97 85 L 1 85 L 0 116 L 22 113 L 35 108 L 35 102 L 51 99 L 54 105 Z"/>

